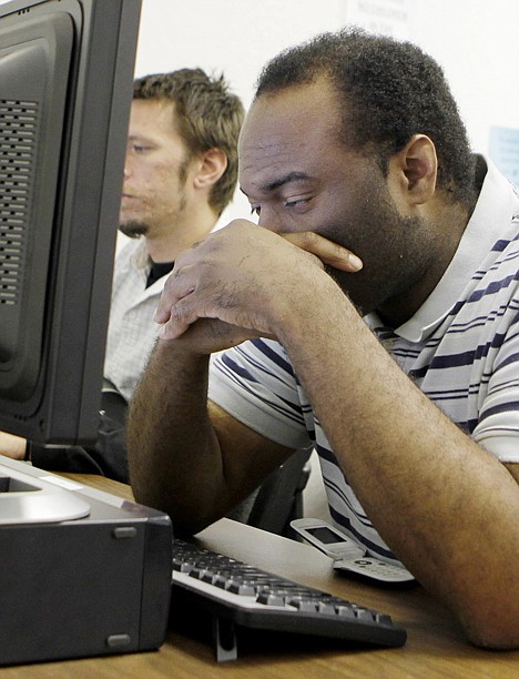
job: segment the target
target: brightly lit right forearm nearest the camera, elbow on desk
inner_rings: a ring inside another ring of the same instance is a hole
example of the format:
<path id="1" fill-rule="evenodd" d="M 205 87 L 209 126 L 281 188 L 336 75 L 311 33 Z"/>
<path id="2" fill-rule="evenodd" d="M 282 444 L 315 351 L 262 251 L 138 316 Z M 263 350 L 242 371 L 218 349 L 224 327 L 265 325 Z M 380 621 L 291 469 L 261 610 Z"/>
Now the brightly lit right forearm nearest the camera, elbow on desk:
<path id="1" fill-rule="evenodd" d="M 312 320 L 293 314 L 281 340 L 348 482 L 472 640 L 518 645 L 517 483 L 411 384 L 339 291 L 319 300 Z"/>

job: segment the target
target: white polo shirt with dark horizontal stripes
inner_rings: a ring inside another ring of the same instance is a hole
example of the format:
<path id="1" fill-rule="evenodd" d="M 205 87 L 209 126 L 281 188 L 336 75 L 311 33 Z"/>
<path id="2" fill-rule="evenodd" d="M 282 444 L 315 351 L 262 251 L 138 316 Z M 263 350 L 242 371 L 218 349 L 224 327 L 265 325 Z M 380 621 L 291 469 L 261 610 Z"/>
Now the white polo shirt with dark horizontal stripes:
<path id="1" fill-rule="evenodd" d="M 396 330 L 375 314 L 365 320 L 455 423 L 500 460 L 519 463 L 519 195 L 487 165 L 458 250 L 424 305 Z M 333 520 L 372 555 L 394 558 L 344 477 L 279 344 L 255 340 L 215 356 L 210 398 L 272 440 L 314 446 Z"/>

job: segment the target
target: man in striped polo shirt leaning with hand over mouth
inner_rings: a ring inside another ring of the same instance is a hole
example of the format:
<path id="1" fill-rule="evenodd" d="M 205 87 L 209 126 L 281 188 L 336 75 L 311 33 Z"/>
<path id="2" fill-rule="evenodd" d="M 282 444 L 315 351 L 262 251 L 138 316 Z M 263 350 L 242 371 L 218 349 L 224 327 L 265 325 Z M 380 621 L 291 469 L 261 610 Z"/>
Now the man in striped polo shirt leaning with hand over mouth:
<path id="1" fill-rule="evenodd" d="M 474 643 L 518 646 L 515 188 L 438 64 L 362 31 L 267 64 L 238 153 L 260 225 L 176 260 L 129 418 L 138 500 L 196 533 L 315 445 L 340 528 Z"/>

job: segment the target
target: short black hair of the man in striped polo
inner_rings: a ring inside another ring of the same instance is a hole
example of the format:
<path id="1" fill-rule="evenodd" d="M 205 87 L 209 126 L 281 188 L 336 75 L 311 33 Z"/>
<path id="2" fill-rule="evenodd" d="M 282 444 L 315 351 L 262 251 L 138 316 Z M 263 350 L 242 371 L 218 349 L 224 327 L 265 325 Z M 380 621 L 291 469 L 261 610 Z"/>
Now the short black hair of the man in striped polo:
<path id="1" fill-rule="evenodd" d="M 327 78 L 345 102 L 344 142 L 389 159 L 414 134 L 436 145 L 438 188 L 455 202 L 474 201 L 475 156 L 439 64 L 417 45 L 362 29 L 323 33 L 283 51 L 263 69 L 255 98 Z"/>

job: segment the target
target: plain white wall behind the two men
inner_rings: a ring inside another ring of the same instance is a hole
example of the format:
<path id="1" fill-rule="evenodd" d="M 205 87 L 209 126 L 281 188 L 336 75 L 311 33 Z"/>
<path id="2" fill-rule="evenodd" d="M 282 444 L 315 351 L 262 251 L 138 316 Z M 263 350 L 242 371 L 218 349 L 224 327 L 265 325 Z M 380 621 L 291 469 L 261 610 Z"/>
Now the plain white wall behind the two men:
<path id="1" fill-rule="evenodd" d="M 282 49 L 349 22 L 420 44 L 444 67 L 476 151 L 491 125 L 519 128 L 517 0 L 143 0 L 136 75 L 223 71 L 248 105 Z M 222 217 L 248 214 L 240 195 Z"/>

